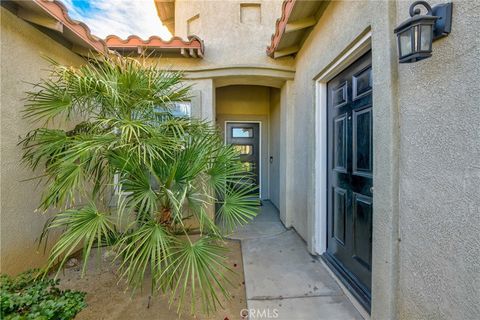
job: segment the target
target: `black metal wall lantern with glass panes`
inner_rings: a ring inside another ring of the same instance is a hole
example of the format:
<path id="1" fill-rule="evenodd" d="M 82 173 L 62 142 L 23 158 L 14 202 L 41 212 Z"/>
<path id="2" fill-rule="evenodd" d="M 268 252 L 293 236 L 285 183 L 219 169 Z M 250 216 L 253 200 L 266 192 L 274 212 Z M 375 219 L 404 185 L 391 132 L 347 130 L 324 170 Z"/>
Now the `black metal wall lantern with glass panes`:
<path id="1" fill-rule="evenodd" d="M 422 5 L 427 9 L 420 14 Z M 452 28 L 452 4 L 445 3 L 433 8 L 426 1 L 415 1 L 410 6 L 410 19 L 402 22 L 394 32 L 398 38 L 400 63 L 417 62 L 432 56 L 432 42 L 447 36 Z"/>

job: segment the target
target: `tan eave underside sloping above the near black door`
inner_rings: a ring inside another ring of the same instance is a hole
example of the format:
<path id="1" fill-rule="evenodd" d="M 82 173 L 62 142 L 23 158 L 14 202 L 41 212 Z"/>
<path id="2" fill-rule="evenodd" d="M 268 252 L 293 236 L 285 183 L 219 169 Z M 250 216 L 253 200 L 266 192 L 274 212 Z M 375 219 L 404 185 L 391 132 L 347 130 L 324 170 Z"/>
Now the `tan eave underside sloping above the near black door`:
<path id="1" fill-rule="evenodd" d="M 330 0 L 285 0 L 267 55 L 274 59 L 295 55 L 329 2 Z"/>

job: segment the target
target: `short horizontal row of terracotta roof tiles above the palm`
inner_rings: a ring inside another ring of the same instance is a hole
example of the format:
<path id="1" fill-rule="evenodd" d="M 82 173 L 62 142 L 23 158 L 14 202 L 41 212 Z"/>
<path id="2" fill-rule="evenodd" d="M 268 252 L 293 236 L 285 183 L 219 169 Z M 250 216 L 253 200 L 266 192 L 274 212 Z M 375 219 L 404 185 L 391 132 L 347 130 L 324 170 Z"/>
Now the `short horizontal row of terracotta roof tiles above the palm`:
<path id="1" fill-rule="evenodd" d="M 164 40 L 158 36 L 151 36 L 144 40 L 137 35 L 131 35 L 127 39 L 122 39 L 116 35 L 109 35 L 105 38 L 105 42 L 111 49 L 135 47 L 183 48 L 197 49 L 201 54 L 204 52 L 203 41 L 197 36 L 189 36 L 188 40 L 184 40 L 180 37 L 172 37 L 169 40 Z"/>

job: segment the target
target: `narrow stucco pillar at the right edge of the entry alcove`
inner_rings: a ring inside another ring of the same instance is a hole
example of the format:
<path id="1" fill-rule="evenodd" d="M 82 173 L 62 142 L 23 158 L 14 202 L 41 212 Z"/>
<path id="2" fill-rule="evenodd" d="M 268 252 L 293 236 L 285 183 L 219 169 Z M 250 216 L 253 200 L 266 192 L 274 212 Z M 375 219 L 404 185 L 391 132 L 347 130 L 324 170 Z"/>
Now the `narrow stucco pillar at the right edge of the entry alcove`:
<path id="1" fill-rule="evenodd" d="M 280 220 L 289 228 L 293 212 L 293 130 L 295 87 L 285 82 L 280 98 Z"/>

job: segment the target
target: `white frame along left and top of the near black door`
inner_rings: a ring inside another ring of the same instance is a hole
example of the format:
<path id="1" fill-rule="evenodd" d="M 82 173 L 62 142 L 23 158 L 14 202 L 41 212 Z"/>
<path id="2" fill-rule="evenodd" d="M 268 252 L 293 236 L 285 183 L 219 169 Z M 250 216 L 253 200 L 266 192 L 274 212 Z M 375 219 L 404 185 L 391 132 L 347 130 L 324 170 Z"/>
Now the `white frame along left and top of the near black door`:
<path id="1" fill-rule="evenodd" d="M 372 49 L 372 32 L 364 31 L 315 78 L 315 197 L 313 250 L 327 250 L 327 83 Z M 372 253 L 373 255 L 373 253 Z M 373 276 L 373 275 L 372 275 Z"/>

